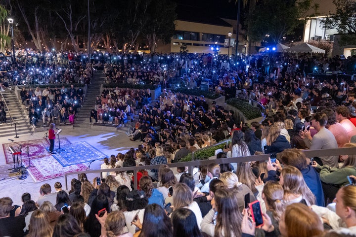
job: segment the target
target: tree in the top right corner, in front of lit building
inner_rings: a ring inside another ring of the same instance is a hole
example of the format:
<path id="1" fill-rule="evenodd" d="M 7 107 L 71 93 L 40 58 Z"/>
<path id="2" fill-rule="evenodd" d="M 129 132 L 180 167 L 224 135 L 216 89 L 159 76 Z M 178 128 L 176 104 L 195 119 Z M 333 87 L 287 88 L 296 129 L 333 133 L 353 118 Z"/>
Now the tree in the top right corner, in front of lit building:
<path id="1" fill-rule="evenodd" d="M 339 44 L 356 44 L 356 0 L 333 0 L 336 13 L 322 21 L 326 29 L 336 29 L 342 33 Z"/>

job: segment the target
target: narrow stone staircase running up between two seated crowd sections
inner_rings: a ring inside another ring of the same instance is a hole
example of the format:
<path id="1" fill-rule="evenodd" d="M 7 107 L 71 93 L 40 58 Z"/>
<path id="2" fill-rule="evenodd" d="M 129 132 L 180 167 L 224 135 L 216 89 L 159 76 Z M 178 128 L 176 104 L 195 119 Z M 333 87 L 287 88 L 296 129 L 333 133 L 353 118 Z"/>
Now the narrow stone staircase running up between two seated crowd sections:
<path id="1" fill-rule="evenodd" d="M 83 107 L 80 108 L 76 115 L 75 127 L 89 126 L 90 111 L 95 106 L 95 99 L 101 94 L 100 87 L 105 81 L 105 75 L 102 71 L 94 71 L 94 76 L 89 85 L 87 94 L 84 98 Z M 94 121 L 95 122 L 95 121 Z"/>

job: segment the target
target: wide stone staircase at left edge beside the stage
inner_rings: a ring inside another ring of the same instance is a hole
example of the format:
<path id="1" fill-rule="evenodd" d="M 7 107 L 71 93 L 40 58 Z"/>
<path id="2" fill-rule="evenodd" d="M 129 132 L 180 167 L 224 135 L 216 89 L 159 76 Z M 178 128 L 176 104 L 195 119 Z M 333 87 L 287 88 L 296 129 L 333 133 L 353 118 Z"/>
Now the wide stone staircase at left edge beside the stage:
<path id="1" fill-rule="evenodd" d="M 31 132 L 31 126 L 27 119 L 27 114 L 23 110 L 21 103 L 17 100 L 17 97 L 14 91 L 2 91 L 1 92 L 6 104 L 6 124 L 0 124 L 0 137 L 4 136 L 15 136 L 15 125 L 17 135 L 28 134 Z M 10 114 L 13 119 L 10 123 Z"/>

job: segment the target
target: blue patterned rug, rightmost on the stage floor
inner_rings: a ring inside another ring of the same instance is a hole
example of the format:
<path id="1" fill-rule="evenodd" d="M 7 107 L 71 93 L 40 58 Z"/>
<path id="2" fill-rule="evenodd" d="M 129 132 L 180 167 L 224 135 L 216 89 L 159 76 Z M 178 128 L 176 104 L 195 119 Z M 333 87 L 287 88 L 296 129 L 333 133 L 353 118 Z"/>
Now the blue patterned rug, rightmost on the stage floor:
<path id="1" fill-rule="evenodd" d="M 67 145 L 62 145 L 64 151 L 57 152 L 52 156 L 63 166 L 76 165 L 80 163 L 100 160 L 107 157 L 95 147 L 89 145 L 86 141 L 75 142 Z"/>

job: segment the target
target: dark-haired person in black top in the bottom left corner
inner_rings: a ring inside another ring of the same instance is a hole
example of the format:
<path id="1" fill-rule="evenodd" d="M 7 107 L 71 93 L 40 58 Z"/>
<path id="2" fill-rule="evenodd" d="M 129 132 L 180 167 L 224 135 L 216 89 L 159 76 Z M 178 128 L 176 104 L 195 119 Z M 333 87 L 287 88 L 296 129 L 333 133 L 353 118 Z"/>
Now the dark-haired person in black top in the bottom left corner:
<path id="1" fill-rule="evenodd" d="M 23 237 L 25 228 L 24 216 L 10 216 L 12 200 L 9 197 L 0 198 L 0 236 Z"/>

